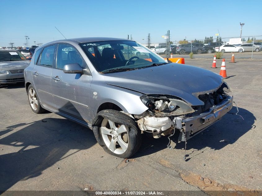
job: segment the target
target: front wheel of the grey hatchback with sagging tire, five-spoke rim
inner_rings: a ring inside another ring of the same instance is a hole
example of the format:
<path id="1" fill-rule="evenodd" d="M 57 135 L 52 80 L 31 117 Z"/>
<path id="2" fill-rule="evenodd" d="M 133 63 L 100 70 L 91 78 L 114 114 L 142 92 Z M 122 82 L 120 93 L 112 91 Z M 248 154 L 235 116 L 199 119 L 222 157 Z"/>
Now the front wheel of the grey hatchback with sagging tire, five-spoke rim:
<path id="1" fill-rule="evenodd" d="M 130 158 L 141 145 L 141 131 L 135 120 L 116 110 L 102 110 L 92 125 L 95 138 L 100 146 L 120 158 Z"/>

